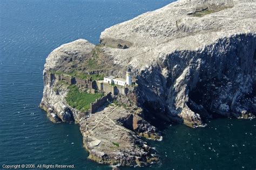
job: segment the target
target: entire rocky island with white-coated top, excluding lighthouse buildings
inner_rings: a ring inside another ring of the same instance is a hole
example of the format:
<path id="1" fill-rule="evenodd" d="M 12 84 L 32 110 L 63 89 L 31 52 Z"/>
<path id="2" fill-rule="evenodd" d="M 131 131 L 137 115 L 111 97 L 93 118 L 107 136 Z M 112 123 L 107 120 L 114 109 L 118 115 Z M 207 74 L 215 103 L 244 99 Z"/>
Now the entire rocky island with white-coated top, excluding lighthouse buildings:
<path id="1" fill-rule="evenodd" d="M 98 45 L 64 44 L 46 58 L 40 106 L 54 123 L 79 124 L 89 159 L 157 162 L 143 139 L 160 140 L 160 124 L 198 127 L 215 117 L 255 117 L 255 11 L 250 0 L 181 0 L 106 29 Z M 126 95 L 111 94 L 96 113 L 70 97 L 71 90 L 95 93 L 80 79 L 125 77 L 127 67 L 136 85 Z"/>

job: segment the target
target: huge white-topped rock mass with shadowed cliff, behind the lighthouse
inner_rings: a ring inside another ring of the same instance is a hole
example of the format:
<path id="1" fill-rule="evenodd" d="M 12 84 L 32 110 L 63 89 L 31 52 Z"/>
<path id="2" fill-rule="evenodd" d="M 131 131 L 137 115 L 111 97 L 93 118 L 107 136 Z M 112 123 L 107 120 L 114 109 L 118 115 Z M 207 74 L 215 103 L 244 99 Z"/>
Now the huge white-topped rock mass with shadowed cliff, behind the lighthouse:
<path id="1" fill-rule="evenodd" d="M 149 118 L 202 125 L 202 117 L 255 114 L 255 1 L 179 1 L 102 32 L 117 64 L 137 75 Z"/>

